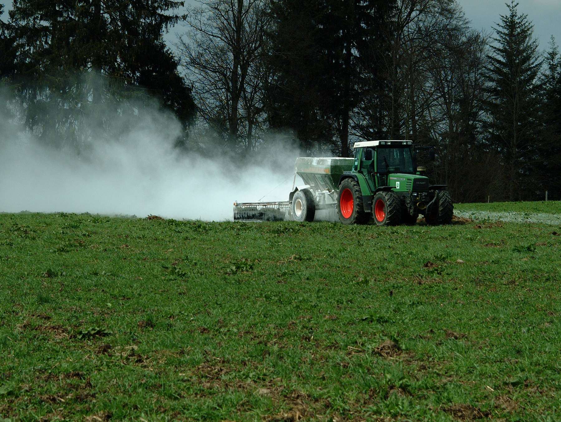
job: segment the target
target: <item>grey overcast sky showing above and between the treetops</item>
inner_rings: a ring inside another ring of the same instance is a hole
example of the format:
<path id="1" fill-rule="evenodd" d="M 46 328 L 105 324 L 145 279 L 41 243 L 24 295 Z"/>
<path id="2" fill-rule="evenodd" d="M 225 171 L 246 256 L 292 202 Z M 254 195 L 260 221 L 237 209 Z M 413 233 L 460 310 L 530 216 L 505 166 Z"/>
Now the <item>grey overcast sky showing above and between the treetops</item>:
<path id="1" fill-rule="evenodd" d="M 500 15 L 507 13 L 507 6 L 504 0 L 458 0 L 466 13 L 467 19 L 471 20 L 472 27 L 478 30 L 491 31 L 495 22 L 500 20 Z M 510 2 L 510 0 L 508 0 Z M 543 51 L 548 48 L 551 35 L 555 37 L 558 44 L 561 44 L 561 0 L 518 0 L 518 11 L 526 13 L 528 19 L 534 23 L 535 37 L 540 41 L 540 49 Z M 2 0 L 6 5 L 5 9 L 11 7 L 11 1 Z M 187 0 L 187 4 L 195 3 L 194 0 Z M 7 13 L 4 13 L 2 20 L 7 20 Z M 182 33 L 181 26 L 173 28 L 165 39 L 168 42 L 175 42 L 176 33 Z"/>

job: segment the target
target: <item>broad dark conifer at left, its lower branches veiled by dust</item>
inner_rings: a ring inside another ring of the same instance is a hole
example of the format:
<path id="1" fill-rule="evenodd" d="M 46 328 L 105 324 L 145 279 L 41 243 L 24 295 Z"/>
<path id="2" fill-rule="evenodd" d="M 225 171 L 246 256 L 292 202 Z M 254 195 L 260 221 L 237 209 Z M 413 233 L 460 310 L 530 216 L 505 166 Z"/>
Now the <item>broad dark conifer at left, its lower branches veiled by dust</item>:
<path id="1" fill-rule="evenodd" d="M 132 96 L 159 97 L 184 119 L 192 117 L 190 89 L 162 39 L 181 18 L 169 12 L 182 5 L 15 0 L 10 24 L 27 126 L 46 139 L 77 143 L 76 129 L 88 129 L 82 130 L 86 136 L 102 134 L 108 128 L 103 113 L 108 107 L 123 112 L 123 101 Z"/>

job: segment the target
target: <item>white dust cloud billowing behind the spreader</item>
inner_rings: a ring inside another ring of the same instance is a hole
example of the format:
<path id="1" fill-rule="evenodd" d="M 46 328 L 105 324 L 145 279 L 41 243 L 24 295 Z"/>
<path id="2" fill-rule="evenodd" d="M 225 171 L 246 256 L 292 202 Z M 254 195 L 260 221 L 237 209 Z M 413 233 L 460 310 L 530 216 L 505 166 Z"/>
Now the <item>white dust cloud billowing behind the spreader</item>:
<path id="1" fill-rule="evenodd" d="M 232 160 L 225 146 L 203 156 L 180 152 L 181 125 L 142 111 L 118 139 L 93 140 L 77 155 L 16 130 L 0 116 L 0 212 L 150 214 L 174 219 L 231 220 L 234 201 L 286 201 L 298 153 L 277 147 Z M 274 139 L 273 139 L 274 142 Z"/>

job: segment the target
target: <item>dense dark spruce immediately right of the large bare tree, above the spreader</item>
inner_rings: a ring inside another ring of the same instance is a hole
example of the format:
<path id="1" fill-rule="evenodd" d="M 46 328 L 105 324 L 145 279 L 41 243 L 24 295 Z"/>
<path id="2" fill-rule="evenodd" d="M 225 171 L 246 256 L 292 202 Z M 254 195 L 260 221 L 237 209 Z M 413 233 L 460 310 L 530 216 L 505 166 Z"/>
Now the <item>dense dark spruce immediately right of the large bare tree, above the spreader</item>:
<path id="1" fill-rule="evenodd" d="M 269 125 L 292 129 L 308 150 L 316 143 L 332 143 L 335 136 L 328 120 L 333 86 L 319 28 L 325 13 L 320 0 L 274 0 L 271 5 L 268 60 L 274 79 L 265 95 Z"/>

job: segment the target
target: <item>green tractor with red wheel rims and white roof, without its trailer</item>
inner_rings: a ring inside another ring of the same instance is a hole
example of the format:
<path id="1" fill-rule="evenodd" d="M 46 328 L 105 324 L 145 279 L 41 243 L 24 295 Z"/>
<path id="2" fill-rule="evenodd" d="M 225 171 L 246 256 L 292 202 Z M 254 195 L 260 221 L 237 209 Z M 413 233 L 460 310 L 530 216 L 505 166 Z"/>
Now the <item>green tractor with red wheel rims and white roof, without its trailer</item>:
<path id="1" fill-rule="evenodd" d="M 421 214 L 429 224 L 449 224 L 454 206 L 446 185 L 430 185 L 415 161 L 410 140 L 357 142 L 352 169 L 339 179 L 339 220 L 364 224 L 373 216 L 378 225 L 415 224 Z"/>

